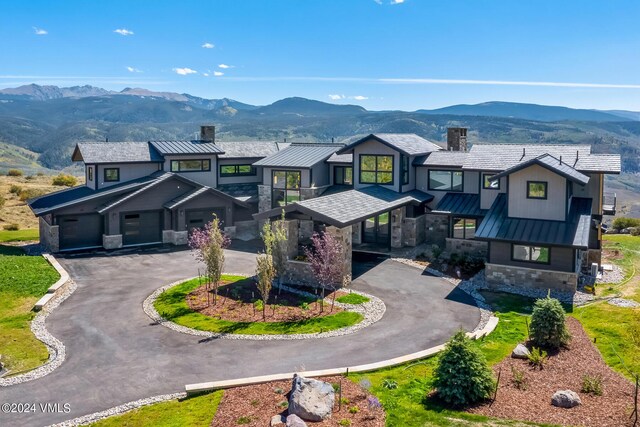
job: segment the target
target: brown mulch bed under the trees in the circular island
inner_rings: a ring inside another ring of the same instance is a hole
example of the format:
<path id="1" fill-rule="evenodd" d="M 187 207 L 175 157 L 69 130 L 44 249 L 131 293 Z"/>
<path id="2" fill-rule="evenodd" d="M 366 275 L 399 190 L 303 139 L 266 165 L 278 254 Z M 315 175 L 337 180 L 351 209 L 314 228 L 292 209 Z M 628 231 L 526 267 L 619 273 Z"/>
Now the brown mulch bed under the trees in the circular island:
<path id="1" fill-rule="evenodd" d="M 331 311 L 331 295 L 325 296 L 324 310 L 321 311 L 319 300 L 304 297 L 292 292 L 271 290 L 271 298 L 266 306 L 266 320 L 262 318 L 262 310 L 254 309 L 253 302 L 260 299 L 260 292 L 251 279 L 237 282 L 222 282 L 218 288 L 217 303 L 213 304 L 213 291 L 210 289 L 207 303 L 207 289 L 200 286 L 187 295 L 189 307 L 205 316 L 232 322 L 297 322 L 318 317 L 329 316 L 343 311 L 334 307 Z M 342 293 L 338 292 L 340 296 Z M 306 303 L 305 308 L 302 305 Z"/>

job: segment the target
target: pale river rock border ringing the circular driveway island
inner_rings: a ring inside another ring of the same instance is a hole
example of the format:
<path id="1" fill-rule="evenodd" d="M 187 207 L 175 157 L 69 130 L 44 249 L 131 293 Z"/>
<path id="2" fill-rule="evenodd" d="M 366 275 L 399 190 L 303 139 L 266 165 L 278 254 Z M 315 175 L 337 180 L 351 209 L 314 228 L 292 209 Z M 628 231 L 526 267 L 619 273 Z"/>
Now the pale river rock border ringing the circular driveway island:
<path id="1" fill-rule="evenodd" d="M 225 273 L 228 274 L 228 273 Z M 242 276 L 242 275 L 240 275 Z M 177 282 L 170 283 L 166 286 L 162 286 L 161 288 L 156 289 L 151 295 L 149 295 L 144 302 L 142 303 L 142 309 L 144 312 L 153 320 L 155 323 L 172 329 L 176 332 L 181 332 L 183 334 L 195 335 L 199 337 L 211 338 L 211 339 L 228 339 L 228 340 L 252 340 L 252 341 L 276 341 L 276 340 L 306 340 L 306 339 L 319 339 L 319 338 L 332 338 L 332 337 L 340 337 L 343 335 L 353 334 L 361 329 L 366 328 L 367 326 L 373 325 L 378 320 L 382 319 L 384 312 L 387 310 L 384 302 L 374 295 L 367 294 L 365 292 L 351 290 L 351 292 L 362 295 L 364 297 L 369 298 L 369 301 L 363 304 L 341 304 L 339 302 L 335 302 L 336 307 L 340 307 L 347 311 L 352 311 L 355 313 L 360 313 L 364 319 L 361 322 L 347 326 L 344 328 L 336 329 L 328 332 L 316 332 L 312 334 L 274 334 L 274 335 L 250 335 L 250 334 L 226 334 L 219 332 L 209 332 L 209 331 L 201 331 L 198 329 L 189 328 L 186 326 L 179 325 L 175 322 L 165 319 L 162 317 L 156 308 L 153 306 L 154 302 L 160 294 L 165 292 L 168 289 L 171 289 L 175 286 L 178 286 L 184 282 L 187 282 L 192 279 L 196 279 L 196 277 L 178 280 Z M 311 294 L 309 292 L 304 292 L 295 288 L 291 288 L 289 286 L 282 285 L 281 288 L 288 292 L 297 293 L 304 296 L 309 297 L 317 297 L 317 295 Z"/>

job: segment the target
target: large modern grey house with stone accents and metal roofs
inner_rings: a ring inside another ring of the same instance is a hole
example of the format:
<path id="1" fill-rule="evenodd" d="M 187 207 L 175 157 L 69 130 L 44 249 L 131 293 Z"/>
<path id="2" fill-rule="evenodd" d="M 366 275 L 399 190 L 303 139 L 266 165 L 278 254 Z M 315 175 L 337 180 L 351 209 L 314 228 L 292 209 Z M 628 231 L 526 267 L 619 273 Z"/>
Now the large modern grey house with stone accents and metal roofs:
<path id="1" fill-rule="evenodd" d="M 490 283 L 575 290 L 600 262 L 600 224 L 615 213 L 605 174 L 620 156 L 586 145 L 475 144 L 451 128 L 443 148 L 414 134 L 342 143 L 79 143 L 86 185 L 31 200 L 51 251 L 183 245 L 217 215 L 231 237 L 257 237 L 283 215 L 291 258 L 314 230 L 352 250 L 423 243 L 486 260 Z M 306 270 L 291 262 L 291 276 Z"/>

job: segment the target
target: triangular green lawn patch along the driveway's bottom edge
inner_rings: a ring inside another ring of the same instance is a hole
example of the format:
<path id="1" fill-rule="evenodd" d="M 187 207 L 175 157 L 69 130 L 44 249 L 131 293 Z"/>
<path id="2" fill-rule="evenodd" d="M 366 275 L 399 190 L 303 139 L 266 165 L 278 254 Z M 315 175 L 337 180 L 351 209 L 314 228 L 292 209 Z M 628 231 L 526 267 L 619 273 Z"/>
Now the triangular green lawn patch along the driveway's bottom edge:
<path id="1" fill-rule="evenodd" d="M 145 406 L 123 415 L 91 424 L 94 427 L 208 427 L 213 420 L 222 391 L 170 400 Z"/>

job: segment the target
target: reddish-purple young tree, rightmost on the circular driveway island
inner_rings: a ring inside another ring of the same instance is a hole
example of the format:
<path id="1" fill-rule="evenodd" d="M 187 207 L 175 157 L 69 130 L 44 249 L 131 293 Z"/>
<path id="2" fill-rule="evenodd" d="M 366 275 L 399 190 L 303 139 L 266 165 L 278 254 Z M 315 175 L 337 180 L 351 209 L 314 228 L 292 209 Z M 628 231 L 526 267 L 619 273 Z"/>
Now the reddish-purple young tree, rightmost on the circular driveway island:
<path id="1" fill-rule="evenodd" d="M 336 301 L 335 291 L 342 284 L 344 263 L 344 251 L 340 242 L 331 234 L 323 232 L 314 233 L 311 237 L 312 247 L 305 248 L 304 252 L 309 262 L 313 275 L 322 287 L 322 299 L 324 300 L 325 288 L 332 289 L 333 298 L 331 311 Z M 320 311 L 324 310 L 324 304 L 320 305 Z"/>

